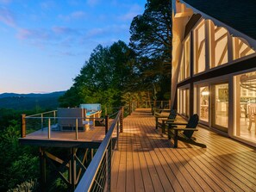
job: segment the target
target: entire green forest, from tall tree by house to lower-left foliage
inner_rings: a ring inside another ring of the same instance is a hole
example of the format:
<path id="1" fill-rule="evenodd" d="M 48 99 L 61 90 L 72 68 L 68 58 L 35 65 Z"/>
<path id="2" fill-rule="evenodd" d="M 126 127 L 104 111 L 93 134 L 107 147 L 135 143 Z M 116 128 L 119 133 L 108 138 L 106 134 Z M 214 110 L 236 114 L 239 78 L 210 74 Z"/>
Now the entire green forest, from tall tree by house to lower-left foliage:
<path id="1" fill-rule="evenodd" d="M 98 102 L 103 108 L 116 108 L 132 100 L 168 100 L 171 64 L 172 1 L 147 0 L 144 13 L 130 25 L 129 43 L 118 40 L 110 46 L 98 45 L 72 87 L 59 97 L 59 106 Z M 40 191 L 39 149 L 19 145 L 18 138 L 21 114 L 44 110 L 0 108 L 0 191 L 22 191 L 25 186 Z M 58 181 L 54 187 L 66 191 Z"/>

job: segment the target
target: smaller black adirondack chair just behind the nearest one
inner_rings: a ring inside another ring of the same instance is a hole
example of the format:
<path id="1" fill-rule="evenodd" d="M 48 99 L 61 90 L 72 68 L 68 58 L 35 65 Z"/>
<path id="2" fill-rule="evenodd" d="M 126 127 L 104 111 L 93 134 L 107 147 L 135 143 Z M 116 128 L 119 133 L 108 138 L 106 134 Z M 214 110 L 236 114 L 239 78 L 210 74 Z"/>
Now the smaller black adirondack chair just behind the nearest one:
<path id="1" fill-rule="evenodd" d="M 169 109 L 170 114 L 169 115 L 161 115 L 161 114 L 156 114 L 154 115 L 155 117 L 155 128 L 158 129 L 158 127 L 162 128 L 162 133 L 165 133 L 165 123 L 167 121 L 173 122 L 176 119 L 177 116 L 177 111 L 175 109 Z M 159 122 L 159 119 L 162 120 L 162 122 Z"/>

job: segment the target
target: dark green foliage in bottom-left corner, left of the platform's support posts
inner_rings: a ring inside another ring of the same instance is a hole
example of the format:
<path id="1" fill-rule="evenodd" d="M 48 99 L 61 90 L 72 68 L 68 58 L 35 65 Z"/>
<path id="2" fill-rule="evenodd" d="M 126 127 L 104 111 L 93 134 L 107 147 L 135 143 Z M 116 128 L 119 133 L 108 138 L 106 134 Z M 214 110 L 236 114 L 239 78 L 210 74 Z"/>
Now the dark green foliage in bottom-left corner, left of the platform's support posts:
<path id="1" fill-rule="evenodd" d="M 14 114 L 17 112 L 14 111 Z M 14 115 L 16 116 L 16 115 Z M 9 127 L 0 131 L 0 191 L 14 189 L 17 184 L 39 177 L 38 149 L 31 146 L 20 146 L 19 119 L 9 117 Z"/>

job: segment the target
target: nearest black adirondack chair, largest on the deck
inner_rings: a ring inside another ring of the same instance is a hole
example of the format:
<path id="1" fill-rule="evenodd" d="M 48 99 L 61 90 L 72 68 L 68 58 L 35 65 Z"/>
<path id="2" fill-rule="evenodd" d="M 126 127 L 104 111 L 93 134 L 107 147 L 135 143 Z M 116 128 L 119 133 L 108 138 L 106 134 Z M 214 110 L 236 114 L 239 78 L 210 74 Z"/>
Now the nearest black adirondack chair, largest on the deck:
<path id="1" fill-rule="evenodd" d="M 167 122 L 167 124 L 169 124 L 168 138 L 174 139 L 174 148 L 178 147 L 178 140 L 184 141 L 191 145 L 201 146 L 203 148 L 206 148 L 204 144 L 197 143 L 196 138 L 192 137 L 194 131 L 198 131 L 198 129 L 196 128 L 198 125 L 198 121 L 199 121 L 198 115 L 194 114 L 190 117 L 187 123 Z M 185 126 L 185 127 L 178 127 L 178 126 Z"/>

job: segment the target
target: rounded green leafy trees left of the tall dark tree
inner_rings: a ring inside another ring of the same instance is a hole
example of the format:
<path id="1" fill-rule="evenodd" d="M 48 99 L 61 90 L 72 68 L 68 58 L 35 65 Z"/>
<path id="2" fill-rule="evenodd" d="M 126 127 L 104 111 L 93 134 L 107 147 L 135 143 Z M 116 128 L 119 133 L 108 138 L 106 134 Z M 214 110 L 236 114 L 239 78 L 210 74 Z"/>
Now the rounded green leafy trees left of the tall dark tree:
<path id="1" fill-rule="evenodd" d="M 61 107 L 99 102 L 103 108 L 120 106 L 134 71 L 133 51 L 119 40 L 112 46 L 98 45 L 85 62 L 74 84 L 59 98 Z"/>

